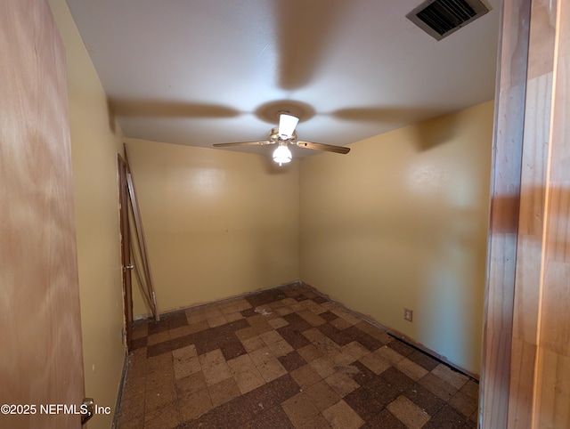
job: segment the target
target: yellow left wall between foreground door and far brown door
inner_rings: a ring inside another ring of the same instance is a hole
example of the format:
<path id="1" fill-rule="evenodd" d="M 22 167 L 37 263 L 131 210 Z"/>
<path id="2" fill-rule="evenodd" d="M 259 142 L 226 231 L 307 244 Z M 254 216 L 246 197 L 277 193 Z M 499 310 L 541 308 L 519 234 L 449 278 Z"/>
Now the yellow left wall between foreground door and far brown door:
<path id="1" fill-rule="evenodd" d="M 49 3 L 67 54 L 85 395 L 114 411 L 125 356 L 117 184 L 122 135 L 110 121 L 106 95 L 67 4 Z M 89 428 L 109 428 L 112 417 L 97 415 Z"/>

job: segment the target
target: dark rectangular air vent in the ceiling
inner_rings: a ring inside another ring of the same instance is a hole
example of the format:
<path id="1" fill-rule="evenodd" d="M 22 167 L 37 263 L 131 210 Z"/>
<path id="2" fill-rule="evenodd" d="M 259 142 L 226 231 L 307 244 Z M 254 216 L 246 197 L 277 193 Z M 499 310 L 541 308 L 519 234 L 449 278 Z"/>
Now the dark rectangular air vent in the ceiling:
<path id="1" fill-rule="evenodd" d="M 428 0 L 406 15 L 428 35 L 441 40 L 489 12 L 479 0 Z"/>

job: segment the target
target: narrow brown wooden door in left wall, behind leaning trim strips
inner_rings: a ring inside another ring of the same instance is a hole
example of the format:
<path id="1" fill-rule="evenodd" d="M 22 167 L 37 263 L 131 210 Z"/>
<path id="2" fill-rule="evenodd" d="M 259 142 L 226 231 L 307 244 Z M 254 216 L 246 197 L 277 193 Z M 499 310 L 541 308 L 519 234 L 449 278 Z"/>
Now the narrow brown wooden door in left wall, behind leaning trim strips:
<path id="1" fill-rule="evenodd" d="M 131 230 L 128 216 L 128 188 L 126 184 L 126 163 L 120 155 L 118 167 L 118 204 L 121 231 L 121 263 L 123 265 L 123 299 L 125 301 L 126 349 L 131 350 L 133 338 L 133 285 L 131 281 Z"/>

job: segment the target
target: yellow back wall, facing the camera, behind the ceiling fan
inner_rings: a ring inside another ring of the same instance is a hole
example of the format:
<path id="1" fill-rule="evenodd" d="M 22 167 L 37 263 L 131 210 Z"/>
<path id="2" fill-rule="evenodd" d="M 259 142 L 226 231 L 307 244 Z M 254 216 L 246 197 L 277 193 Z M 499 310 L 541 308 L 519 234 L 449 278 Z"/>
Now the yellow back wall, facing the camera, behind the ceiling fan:
<path id="1" fill-rule="evenodd" d="M 126 142 L 159 312 L 298 279 L 297 161 Z"/>

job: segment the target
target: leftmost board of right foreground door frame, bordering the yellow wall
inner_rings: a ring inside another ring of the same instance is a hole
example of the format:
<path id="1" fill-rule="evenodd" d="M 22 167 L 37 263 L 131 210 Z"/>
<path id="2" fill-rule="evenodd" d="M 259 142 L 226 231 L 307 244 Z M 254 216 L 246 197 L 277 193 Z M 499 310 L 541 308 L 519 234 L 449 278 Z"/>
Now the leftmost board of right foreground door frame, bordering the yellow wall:
<path id="1" fill-rule="evenodd" d="M 503 2 L 491 190 L 480 424 L 506 427 L 517 263 L 530 1 Z"/>

